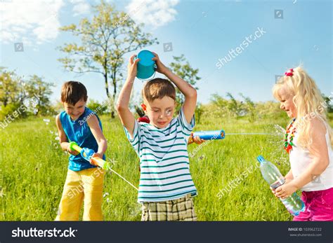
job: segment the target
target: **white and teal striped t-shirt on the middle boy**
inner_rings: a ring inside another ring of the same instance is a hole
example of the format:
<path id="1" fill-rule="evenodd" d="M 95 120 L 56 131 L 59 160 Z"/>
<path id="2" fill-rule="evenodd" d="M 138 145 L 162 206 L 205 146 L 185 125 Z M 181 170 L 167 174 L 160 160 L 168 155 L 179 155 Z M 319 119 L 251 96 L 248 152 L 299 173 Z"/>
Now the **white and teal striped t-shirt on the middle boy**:
<path id="1" fill-rule="evenodd" d="M 188 160 L 188 138 L 194 125 L 195 116 L 189 124 L 182 108 L 162 129 L 135 121 L 133 139 L 124 127 L 140 158 L 138 202 L 174 200 L 188 193 L 197 195 Z"/>

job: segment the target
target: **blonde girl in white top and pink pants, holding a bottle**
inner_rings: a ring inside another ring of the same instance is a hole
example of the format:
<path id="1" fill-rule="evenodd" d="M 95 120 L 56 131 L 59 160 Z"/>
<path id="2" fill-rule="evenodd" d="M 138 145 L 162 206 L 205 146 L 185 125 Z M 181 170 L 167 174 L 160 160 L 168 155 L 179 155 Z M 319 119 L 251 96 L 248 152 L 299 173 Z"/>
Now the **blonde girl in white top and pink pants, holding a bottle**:
<path id="1" fill-rule="evenodd" d="M 333 139 L 327 104 L 315 81 L 301 67 L 289 69 L 274 85 L 273 95 L 292 119 L 284 144 L 291 169 L 285 184 L 273 193 L 286 198 L 302 190 L 305 211 L 293 221 L 333 221 Z"/>

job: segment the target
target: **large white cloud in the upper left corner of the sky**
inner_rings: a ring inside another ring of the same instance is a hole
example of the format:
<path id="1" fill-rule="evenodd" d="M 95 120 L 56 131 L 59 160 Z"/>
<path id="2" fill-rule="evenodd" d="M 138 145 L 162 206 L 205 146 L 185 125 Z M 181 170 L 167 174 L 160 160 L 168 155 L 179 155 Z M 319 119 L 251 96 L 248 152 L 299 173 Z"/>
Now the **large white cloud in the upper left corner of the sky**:
<path id="1" fill-rule="evenodd" d="M 63 0 L 11 0 L 0 3 L 3 43 L 23 41 L 25 46 L 44 43 L 58 36 Z"/>

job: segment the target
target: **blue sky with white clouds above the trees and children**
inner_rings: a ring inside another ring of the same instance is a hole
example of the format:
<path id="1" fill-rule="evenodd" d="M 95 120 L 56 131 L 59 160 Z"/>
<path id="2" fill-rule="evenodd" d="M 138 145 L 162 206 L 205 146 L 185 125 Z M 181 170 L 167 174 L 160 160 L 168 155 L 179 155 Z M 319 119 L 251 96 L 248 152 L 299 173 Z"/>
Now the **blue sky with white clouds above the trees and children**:
<path id="1" fill-rule="evenodd" d="M 57 61 L 63 55 L 55 50 L 63 43 L 75 41 L 57 28 L 91 17 L 90 5 L 96 2 L 1 1 L 0 66 L 16 69 L 24 76 L 44 76 L 46 81 L 55 83 L 53 101 L 58 99 L 60 86 L 67 80 L 81 81 L 89 97 L 102 101 L 106 98 L 103 77 L 98 74 L 78 77 L 64 71 Z M 127 13 L 137 4 L 110 2 Z M 280 13 L 275 13 L 277 10 Z M 157 37 L 159 45 L 146 49 L 157 52 L 162 62 L 167 65 L 172 56 L 184 54 L 192 67 L 200 69 L 199 102 L 207 103 L 211 94 L 225 96 L 226 92 L 236 97 L 242 92 L 256 102 L 273 100 L 270 90 L 275 75 L 282 75 L 300 63 L 323 93 L 333 92 L 332 1 L 149 0 L 131 17 L 144 22 L 145 32 Z M 247 42 L 246 47 L 243 45 L 241 53 L 223 67 L 216 67 L 218 59 L 240 47 L 258 28 L 265 33 Z M 23 52 L 15 52 L 14 43 L 18 42 L 23 43 Z M 172 43 L 173 50 L 164 52 L 163 43 Z M 141 87 L 142 82 L 137 80 L 134 86 L 137 96 Z"/>

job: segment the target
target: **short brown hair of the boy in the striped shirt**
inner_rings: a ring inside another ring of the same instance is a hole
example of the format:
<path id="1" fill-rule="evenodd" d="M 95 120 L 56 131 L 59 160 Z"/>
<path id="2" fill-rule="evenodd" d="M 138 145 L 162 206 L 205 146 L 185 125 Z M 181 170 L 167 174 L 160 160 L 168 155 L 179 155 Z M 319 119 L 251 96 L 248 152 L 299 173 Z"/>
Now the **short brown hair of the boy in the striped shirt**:
<path id="1" fill-rule="evenodd" d="M 176 89 L 174 85 L 167 79 L 154 78 L 148 81 L 142 90 L 143 99 L 152 102 L 155 99 L 162 99 L 164 96 L 171 97 L 176 100 Z"/>

